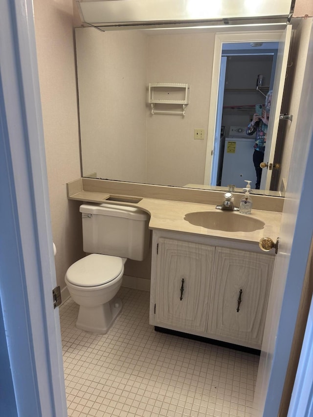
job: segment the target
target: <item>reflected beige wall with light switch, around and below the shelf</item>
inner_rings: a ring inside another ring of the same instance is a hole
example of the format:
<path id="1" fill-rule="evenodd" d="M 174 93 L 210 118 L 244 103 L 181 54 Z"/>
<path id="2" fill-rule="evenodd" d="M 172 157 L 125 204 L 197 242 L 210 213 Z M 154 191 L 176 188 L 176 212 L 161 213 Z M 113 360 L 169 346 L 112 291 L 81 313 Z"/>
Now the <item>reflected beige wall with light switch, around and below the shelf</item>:
<path id="1" fill-rule="evenodd" d="M 150 114 L 147 119 L 148 183 L 203 184 L 215 33 L 148 38 L 148 83 L 190 85 L 184 117 Z M 194 129 L 204 129 L 203 140 L 194 139 Z"/>

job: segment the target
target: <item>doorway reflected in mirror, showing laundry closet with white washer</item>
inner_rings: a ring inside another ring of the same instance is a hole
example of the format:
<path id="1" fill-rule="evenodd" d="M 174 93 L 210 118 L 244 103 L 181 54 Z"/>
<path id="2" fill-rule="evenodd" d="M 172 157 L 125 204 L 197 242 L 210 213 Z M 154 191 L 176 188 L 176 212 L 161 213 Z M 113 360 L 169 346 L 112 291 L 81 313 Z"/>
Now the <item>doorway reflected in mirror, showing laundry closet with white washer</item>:
<path id="1" fill-rule="evenodd" d="M 278 42 L 223 44 L 210 185 L 243 188 L 248 179 L 254 188 L 254 138 L 246 126 L 273 88 L 277 52 Z"/>

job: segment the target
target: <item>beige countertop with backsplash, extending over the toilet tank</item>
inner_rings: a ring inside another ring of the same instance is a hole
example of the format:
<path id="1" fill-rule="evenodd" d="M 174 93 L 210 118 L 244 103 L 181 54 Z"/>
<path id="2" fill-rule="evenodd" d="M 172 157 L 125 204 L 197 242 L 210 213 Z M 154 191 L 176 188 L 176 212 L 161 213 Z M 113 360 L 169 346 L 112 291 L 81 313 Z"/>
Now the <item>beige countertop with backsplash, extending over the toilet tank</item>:
<path id="1" fill-rule="evenodd" d="M 166 193 L 163 188 L 166 189 Z M 239 205 L 242 195 L 234 194 L 235 205 Z M 250 215 L 246 215 L 239 212 L 217 210 L 216 204 L 223 202 L 223 194 L 220 192 L 124 184 L 91 178 L 79 178 L 67 183 L 68 199 L 91 203 L 123 204 L 141 208 L 151 216 L 150 229 L 188 233 L 214 239 L 231 239 L 234 242 L 242 243 L 258 244 L 263 237 L 269 237 L 275 242 L 279 237 L 282 216 L 281 210 L 277 210 L 277 208 L 282 209 L 283 200 L 281 198 L 254 195 L 251 195 L 251 197 L 254 208 Z M 188 198 L 192 198 L 192 201 Z M 185 219 L 186 214 L 195 212 L 215 213 L 218 221 L 222 219 L 223 226 L 224 220 L 227 222 L 229 215 L 231 217 L 240 216 L 241 224 L 245 221 L 243 219 L 246 219 L 248 223 L 252 219 L 261 220 L 264 222 L 264 227 L 248 232 L 209 229 L 191 224 Z"/>

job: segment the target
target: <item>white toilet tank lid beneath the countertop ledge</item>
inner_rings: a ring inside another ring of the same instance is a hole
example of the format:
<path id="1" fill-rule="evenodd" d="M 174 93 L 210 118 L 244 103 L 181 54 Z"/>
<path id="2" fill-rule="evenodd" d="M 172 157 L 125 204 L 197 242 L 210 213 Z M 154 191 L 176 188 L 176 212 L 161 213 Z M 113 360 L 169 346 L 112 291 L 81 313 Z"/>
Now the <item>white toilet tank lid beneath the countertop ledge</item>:
<path id="1" fill-rule="evenodd" d="M 136 207 L 122 206 L 116 204 L 82 204 L 79 208 L 81 213 L 99 214 L 112 217 L 123 217 L 126 219 L 146 221 L 149 214 Z"/>

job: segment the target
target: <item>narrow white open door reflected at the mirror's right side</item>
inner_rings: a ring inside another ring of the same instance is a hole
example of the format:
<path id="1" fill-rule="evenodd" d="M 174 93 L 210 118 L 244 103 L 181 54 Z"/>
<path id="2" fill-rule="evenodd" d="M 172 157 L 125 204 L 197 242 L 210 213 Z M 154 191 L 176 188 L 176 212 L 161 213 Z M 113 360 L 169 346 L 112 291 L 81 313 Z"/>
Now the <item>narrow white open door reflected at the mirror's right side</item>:
<path id="1" fill-rule="evenodd" d="M 274 163 L 276 138 L 277 138 L 277 133 L 278 133 L 280 110 L 282 107 L 290 40 L 291 40 L 291 25 L 286 27 L 278 43 L 277 62 L 276 62 L 275 78 L 274 78 L 274 85 L 273 85 L 273 99 L 272 99 L 271 108 L 270 108 L 267 143 L 266 143 L 265 154 L 264 154 L 264 162 L 267 162 L 268 164 Z M 287 122 L 285 121 L 284 123 L 287 123 Z M 261 190 L 269 190 L 271 177 L 272 177 L 272 170 L 268 168 L 264 168 L 262 177 L 261 177 L 261 185 L 260 185 Z"/>

